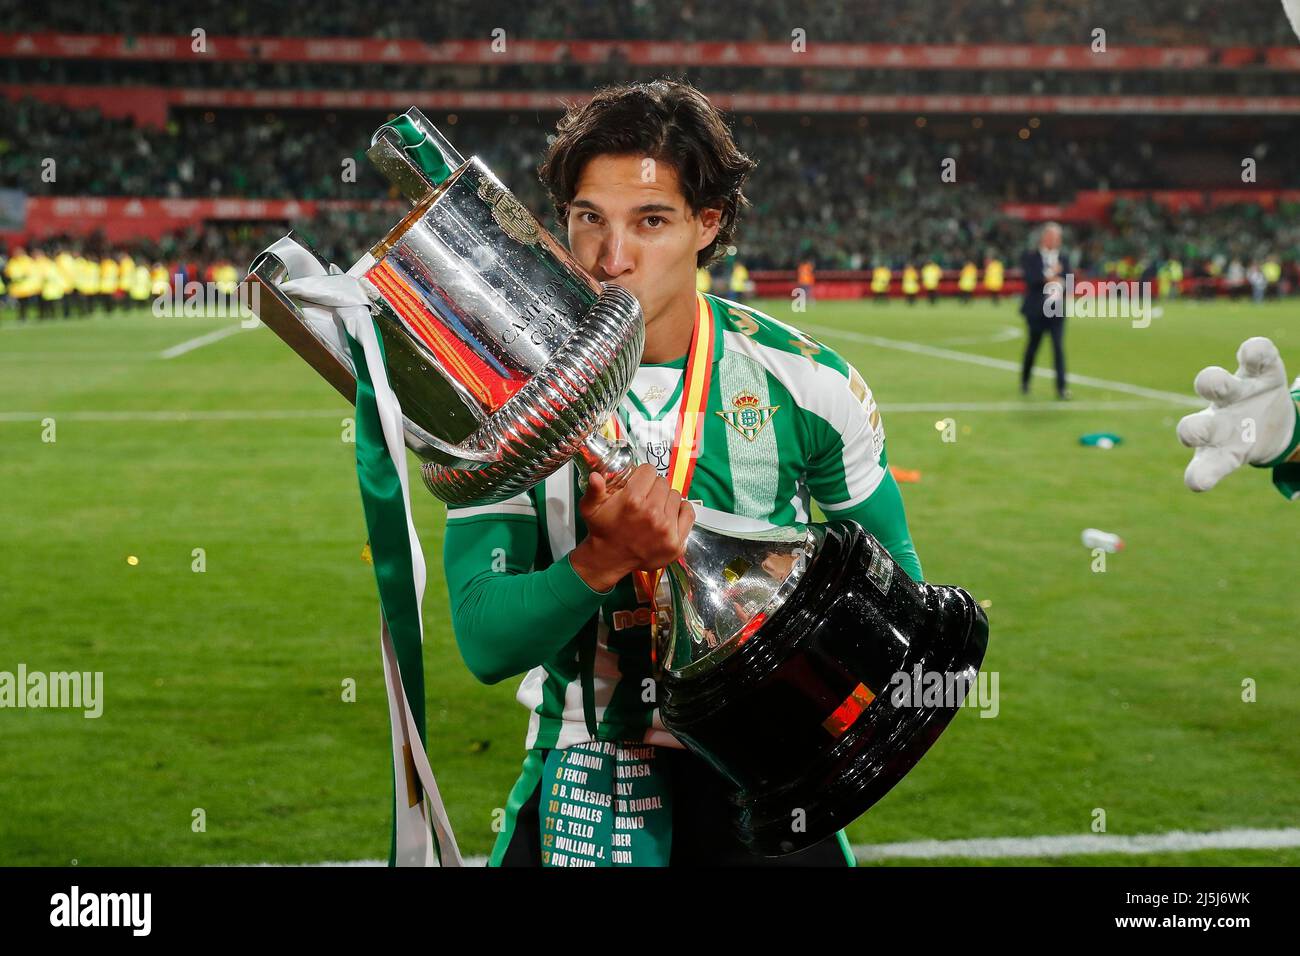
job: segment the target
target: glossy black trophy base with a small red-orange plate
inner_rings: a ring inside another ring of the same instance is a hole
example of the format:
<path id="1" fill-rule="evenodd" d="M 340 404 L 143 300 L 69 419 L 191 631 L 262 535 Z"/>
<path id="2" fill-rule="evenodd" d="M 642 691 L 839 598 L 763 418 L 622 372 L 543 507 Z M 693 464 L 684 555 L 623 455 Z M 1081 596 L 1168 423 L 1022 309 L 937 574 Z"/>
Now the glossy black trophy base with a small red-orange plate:
<path id="1" fill-rule="evenodd" d="M 666 679 L 664 726 L 736 786 L 736 831 L 755 853 L 798 852 L 862 816 L 975 682 L 983 609 L 897 566 L 881 587 L 881 554 L 857 524 L 828 525 L 800 587 L 742 648 L 701 678 Z M 948 685 L 926 695 L 936 674 Z"/>

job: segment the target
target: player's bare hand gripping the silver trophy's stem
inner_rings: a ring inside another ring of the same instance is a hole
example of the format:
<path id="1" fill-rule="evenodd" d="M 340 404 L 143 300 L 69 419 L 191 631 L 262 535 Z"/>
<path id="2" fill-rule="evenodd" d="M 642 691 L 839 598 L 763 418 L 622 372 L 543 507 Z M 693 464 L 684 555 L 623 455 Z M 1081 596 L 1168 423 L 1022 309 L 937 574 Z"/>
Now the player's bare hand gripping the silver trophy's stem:
<path id="1" fill-rule="evenodd" d="M 593 472 L 578 514 L 588 535 L 569 562 L 593 591 L 608 591 L 632 571 L 667 567 L 681 557 L 696 523 L 694 507 L 653 464 L 638 464 L 612 492 Z"/>

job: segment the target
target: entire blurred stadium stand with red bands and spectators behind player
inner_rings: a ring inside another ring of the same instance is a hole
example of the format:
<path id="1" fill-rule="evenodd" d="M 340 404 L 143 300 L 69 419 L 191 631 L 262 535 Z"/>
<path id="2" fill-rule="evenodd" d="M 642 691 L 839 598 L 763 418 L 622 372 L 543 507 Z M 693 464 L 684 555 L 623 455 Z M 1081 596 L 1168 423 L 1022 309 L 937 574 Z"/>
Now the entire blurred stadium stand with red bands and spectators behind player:
<path id="1" fill-rule="evenodd" d="M 759 165 L 746 190 L 753 208 L 729 259 L 742 259 L 767 291 L 788 287 L 805 260 L 815 263 L 820 282 L 857 281 L 857 294 L 867 294 L 872 267 L 898 273 L 933 260 L 944 269 L 942 290 L 954 291 L 968 263 L 983 268 L 998 260 L 1014 271 L 1032 224 L 1045 219 L 1066 222 L 1078 267 L 1095 274 L 1167 276 L 1176 263 L 1174 274 L 1188 289 L 1235 291 L 1242 282 L 1228 276 L 1268 265 L 1264 271 L 1277 276 L 1273 291 L 1294 284 L 1300 193 L 1292 187 L 1300 182 L 1300 159 L 1287 147 L 1287 111 L 1273 113 L 1269 104 L 1295 91 L 1296 64 L 1275 49 L 1292 42 L 1284 22 L 1257 16 L 1254 0 L 1154 0 L 1140 12 L 1113 0 L 1069 9 L 1005 0 L 866 7 L 826 4 L 814 16 L 785 0 L 759 0 L 734 17 L 705 4 L 619 0 L 575 4 L 569 16 L 555 17 L 497 0 L 456 0 L 430 17 L 399 0 L 363 17 L 296 1 L 274 9 L 199 3 L 182 13 L 126 0 L 20 16 L 13 0 L 0 0 L 0 14 L 10 14 L 5 22 L 21 21 L 29 31 L 0 36 L 0 49 L 12 53 L 0 61 L 0 195 L 9 195 L 10 206 L 21 196 L 25 209 L 25 226 L 0 232 L 0 247 L 22 243 L 53 254 L 82 246 L 99 255 L 112 246 L 140 260 L 199 263 L 203 271 L 247 263 L 291 225 L 332 256 L 351 260 L 400 209 L 364 159 L 373 129 L 396 111 L 346 99 L 322 105 L 309 94 L 381 88 L 412 96 L 542 96 L 545 105 L 536 109 L 489 101 L 426 112 L 558 232 L 534 169 L 563 101 L 603 83 L 673 75 L 736 99 L 737 140 Z M 446 62 L 368 62 L 365 56 L 337 62 L 328 51 L 322 61 L 289 61 L 256 49 L 270 48 L 270 40 L 257 38 L 276 36 L 481 42 L 503 23 L 507 36 L 530 40 L 621 43 L 599 48 L 594 59 L 562 46 L 558 59 L 521 56 L 500 65 L 450 56 Z M 1097 70 L 1075 60 L 1065 69 L 1022 69 L 993 56 L 1005 55 L 1008 44 L 1040 52 L 1087 47 L 1098 25 L 1110 42 L 1144 48 L 1147 59 Z M 187 39 L 202 27 L 212 38 L 250 40 L 254 52 L 187 60 L 183 51 L 135 49 L 142 26 L 143 39 Z M 888 43 L 902 60 L 861 68 L 749 65 L 758 47 L 746 44 L 789 44 L 792 30 L 805 30 L 814 43 Z M 52 43 L 60 34 L 108 46 L 60 56 L 22 52 L 23 42 Z M 722 65 L 682 47 L 647 69 L 634 62 L 636 49 L 624 48 L 664 36 L 679 44 L 738 43 L 733 59 L 742 65 Z M 936 66 L 924 59 L 933 51 L 914 44 L 957 44 L 936 49 L 989 65 Z M 1200 65 L 1178 69 L 1152 60 L 1162 48 L 1199 56 Z M 1225 57 L 1256 68 L 1219 69 Z M 794 101 L 748 103 L 755 90 Z M 278 91 L 285 104 L 228 103 L 242 91 Z M 918 98 L 924 101 L 911 108 L 911 94 L 924 94 Z M 956 99 L 945 107 L 946 94 Z M 161 104 L 161 122 L 113 114 L 113 101 L 131 95 L 152 98 L 155 109 Z M 827 108 L 818 99 L 823 95 L 853 101 Z M 878 108 L 862 98 L 875 98 Z M 1000 111 L 997 98 L 1027 105 Z M 1179 108 L 1153 108 L 1150 98 L 1176 99 Z M 1091 105 L 1080 107 L 1080 99 Z M 43 176 L 49 159 L 56 174 Z M 1254 164 L 1248 182 L 1244 159 Z M 348 160 L 352 178 L 341 174 Z M 940 176 L 948 161 L 953 181 Z M 126 213 L 113 217 L 120 200 L 148 203 L 134 213 L 142 220 L 151 216 L 140 209 L 176 208 L 157 200 L 207 204 L 181 207 L 192 212 L 188 221 L 173 212 L 173 225 L 153 219 L 148 229 L 133 229 Z M 214 203 L 222 203 L 220 215 Z"/>

